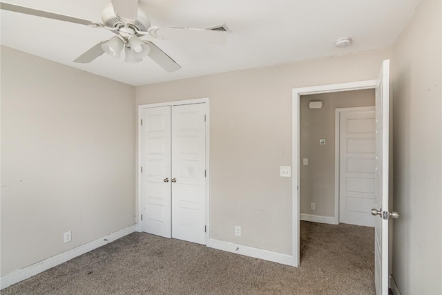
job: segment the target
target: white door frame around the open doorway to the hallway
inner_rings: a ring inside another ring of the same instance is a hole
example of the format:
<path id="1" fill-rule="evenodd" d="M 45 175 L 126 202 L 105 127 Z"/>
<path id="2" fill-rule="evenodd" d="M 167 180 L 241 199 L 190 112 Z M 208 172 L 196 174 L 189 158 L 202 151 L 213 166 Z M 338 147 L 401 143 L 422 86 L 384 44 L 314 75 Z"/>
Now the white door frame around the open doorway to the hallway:
<path id="1" fill-rule="evenodd" d="M 301 95 L 311 95 L 311 94 L 320 94 L 320 93 L 334 93 L 341 91 L 355 91 L 355 90 L 364 90 L 364 89 L 372 89 L 376 88 L 378 84 L 378 80 L 365 80 L 359 82 L 349 82 L 349 83 L 340 83 L 340 84 L 329 84 L 329 85 L 320 85 L 320 86 L 310 86 L 310 87 L 301 87 L 301 88 L 293 88 L 292 89 L 292 101 L 291 101 L 291 120 L 292 120 L 292 161 L 291 166 L 293 167 L 292 171 L 292 186 L 291 186 L 291 216 L 292 216 L 292 257 L 293 257 L 293 265 L 298 266 L 300 260 L 300 207 L 299 207 L 299 185 L 300 185 L 300 129 L 299 129 L 299 109 L 300 109 L 300 96 Z M 336 211 L 335 211 L 336 216 Z"/>

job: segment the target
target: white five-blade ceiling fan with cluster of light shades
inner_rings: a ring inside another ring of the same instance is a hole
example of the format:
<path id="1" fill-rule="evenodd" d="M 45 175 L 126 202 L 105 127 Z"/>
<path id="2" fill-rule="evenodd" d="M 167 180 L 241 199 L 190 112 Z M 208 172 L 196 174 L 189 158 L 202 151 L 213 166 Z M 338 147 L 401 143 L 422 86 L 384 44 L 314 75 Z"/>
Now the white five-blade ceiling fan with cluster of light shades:
<path id="1" fill-rule="evenodd" d="M 108 4 L 102 12 L 103 23 L 6 2 L 0 2 L 0 8 L 26 15 L 79 23 L 92 28 L 105 28 L 116 34 L 110 39 L 100 41 L 74 60 L 81 64 L 90 63 L 103 53 L 118 59 L 124 49 L 126 62 L 140 62 L 148 56 L 164 70 L 173 72 L 179 70 L 181 66 L 151 41 L 142 40 L 140 37 L 151 35 L 157 39 L 185 39 L 220 45 L 227 41 L 227 32 L 220 30 L 151 26 L 146 13 L 138 8 L 138 0 L 112 0 L 112 3 Z"/>

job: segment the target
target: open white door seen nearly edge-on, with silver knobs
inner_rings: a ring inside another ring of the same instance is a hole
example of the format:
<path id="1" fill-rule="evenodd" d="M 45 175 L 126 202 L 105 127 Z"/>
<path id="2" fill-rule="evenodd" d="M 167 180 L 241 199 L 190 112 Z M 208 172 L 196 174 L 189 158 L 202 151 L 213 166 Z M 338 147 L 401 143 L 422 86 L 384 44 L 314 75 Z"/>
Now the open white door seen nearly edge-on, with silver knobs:
<path id="1" fill-rule="evenodd" d="M 388 151 L 390 61 L 383 61 L 376 87 L 376 193 L 374 217 L 374 281 L 376 294 L 388 294 Z M 376 212 L 376 210 L 378 212 Z"/>

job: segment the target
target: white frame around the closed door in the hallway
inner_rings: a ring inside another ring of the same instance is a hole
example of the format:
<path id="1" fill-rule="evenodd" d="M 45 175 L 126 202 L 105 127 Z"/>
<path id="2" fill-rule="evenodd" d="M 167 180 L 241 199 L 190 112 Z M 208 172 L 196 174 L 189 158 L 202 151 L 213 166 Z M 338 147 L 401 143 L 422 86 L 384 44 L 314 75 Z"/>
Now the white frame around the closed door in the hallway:
<path id="1" fill-rule="evenodd" d="M 334 224 L 338 225 L 340 220 L 339 191 L 340 191 L 340 115 L 342 113 L 354 113 L 357 111 L 375 111 L 375 106 L 355 106 L 350 108 L 336 108 L 334 116 Z"/>

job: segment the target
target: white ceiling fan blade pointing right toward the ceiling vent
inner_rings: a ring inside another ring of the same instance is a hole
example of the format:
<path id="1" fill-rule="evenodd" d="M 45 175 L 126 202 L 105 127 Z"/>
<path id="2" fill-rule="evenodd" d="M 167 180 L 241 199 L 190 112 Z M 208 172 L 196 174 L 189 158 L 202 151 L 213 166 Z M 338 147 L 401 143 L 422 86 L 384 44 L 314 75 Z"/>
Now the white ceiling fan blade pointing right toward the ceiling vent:
<path id="1" fill-rule="evenodd" d="M 227 42 L 227 32 L 219 30 L 151 27 L 149 32 L 153 37 L 159 39 L 199 41 L 218 45 L 223 45 Z"/>

